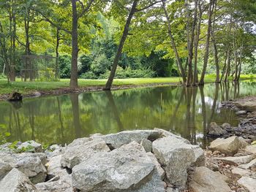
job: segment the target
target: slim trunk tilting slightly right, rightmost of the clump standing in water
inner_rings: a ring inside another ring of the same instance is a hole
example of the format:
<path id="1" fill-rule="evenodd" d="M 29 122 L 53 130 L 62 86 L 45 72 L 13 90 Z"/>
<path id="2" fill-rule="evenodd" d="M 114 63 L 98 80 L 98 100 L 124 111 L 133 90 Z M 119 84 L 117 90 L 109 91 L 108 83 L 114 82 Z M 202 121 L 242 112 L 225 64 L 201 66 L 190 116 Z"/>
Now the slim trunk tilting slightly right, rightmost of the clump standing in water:
<path id="1" fill-rule="evenodd" d="M 212 15 L 212 6 L 213 0 L 210 0 L 209 2 L 209 8 L 208 8 L 208 28 L 207 28 L 207 37 L 206 37 L 206 53 L 203 58 L 203 71 L 201 74 L 199 85 L 204 85 L 204 78 L 206 75 L 206 68 L 208 64 L 208 57 L 209 57 L 209 45 L 210 45 L 210 37 L 211 37 L 211 15 Z"/>

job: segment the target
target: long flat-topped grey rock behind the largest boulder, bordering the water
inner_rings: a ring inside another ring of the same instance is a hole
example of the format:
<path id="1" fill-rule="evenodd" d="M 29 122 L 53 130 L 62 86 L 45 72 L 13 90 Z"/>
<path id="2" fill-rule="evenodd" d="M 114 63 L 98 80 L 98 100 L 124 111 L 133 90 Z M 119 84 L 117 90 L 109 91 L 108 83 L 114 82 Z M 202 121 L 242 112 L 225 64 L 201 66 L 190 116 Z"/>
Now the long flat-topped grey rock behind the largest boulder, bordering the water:
<path id="1" fill-rule="evenodd" d="M 116 149 L 121 145 L 129 144 L 130 142 L 140 143 L 142 139 L 154 140 L 161 137 L 159 131 L 156 130 L 134 130 L 134 131 L 121 131 L 117 134 L 108 135 L 92 135 L 92 139 L 103 139 L 107 145 Z"/>

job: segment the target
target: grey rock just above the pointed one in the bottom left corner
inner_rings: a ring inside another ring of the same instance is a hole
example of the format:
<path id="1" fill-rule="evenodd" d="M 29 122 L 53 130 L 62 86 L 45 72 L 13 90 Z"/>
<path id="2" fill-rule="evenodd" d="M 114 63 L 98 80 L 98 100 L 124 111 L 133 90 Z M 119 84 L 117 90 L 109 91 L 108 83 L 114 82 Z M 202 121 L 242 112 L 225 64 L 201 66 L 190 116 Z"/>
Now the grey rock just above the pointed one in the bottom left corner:
<path id="1" fill-rule="evenodd" d="M 15 168 L 26 174 L 34 184 L 45 181 L 46 169 L 37 155 L 21 153 L 17 158 Z"/>

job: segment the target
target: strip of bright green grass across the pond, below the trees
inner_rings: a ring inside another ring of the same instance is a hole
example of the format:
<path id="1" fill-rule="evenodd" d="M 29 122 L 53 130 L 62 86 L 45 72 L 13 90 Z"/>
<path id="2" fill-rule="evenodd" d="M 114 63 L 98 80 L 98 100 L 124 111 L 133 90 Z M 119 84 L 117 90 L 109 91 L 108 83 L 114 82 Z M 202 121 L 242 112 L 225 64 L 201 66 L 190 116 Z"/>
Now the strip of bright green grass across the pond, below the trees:
<path id="1" fill-rule="evenodd" d="M 206 75 L 205 82 L 214 82 L 215 76 L 212 74 Z M 241 80 L 256 80 L 254 75 L 241 75 Z M 104 86 L 107 80 L 78 80 L 80 88 L 89 86 Z M 132 78 L 132 79 L 115 79 L 113 85 L 143 85 L 157 83 L 175 83 L 181 82 L 181 77 L 158 77 L 158 78 Z M 17 79 L 16 82 L 8 83 L 7 80 L 0 79 L 0 95 L 19 91 L 23 94 L 29 94 L 34 91 L 51 91 L 58 88 L 68 88 L 69 79 L 61 79 L 57 82 L 21 82 Z"/>

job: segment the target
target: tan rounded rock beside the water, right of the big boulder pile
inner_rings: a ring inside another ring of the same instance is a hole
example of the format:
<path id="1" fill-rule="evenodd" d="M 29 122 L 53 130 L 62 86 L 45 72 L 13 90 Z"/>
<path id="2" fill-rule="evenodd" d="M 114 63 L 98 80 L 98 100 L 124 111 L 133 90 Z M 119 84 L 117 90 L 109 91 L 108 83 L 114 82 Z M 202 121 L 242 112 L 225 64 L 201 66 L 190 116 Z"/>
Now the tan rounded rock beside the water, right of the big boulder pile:
<path id="1" fill-rule="evenodd" d="M 219 150 L 221 153 L 226 155 L 234 155 L 241 148 L 241 142 L 238 137 L 233 136 L 227 139 L 218 138 L 211 142 L 209 149 Z"/>

